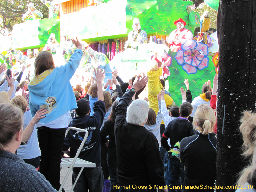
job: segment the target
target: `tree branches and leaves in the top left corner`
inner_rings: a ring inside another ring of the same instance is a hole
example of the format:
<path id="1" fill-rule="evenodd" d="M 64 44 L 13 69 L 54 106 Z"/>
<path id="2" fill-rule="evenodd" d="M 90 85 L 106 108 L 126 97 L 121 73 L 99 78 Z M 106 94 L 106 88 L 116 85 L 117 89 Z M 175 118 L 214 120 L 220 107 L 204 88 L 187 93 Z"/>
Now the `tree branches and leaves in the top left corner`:
<path id="1" fill-rule="evenodd" d="M 48 18 L 48 7 L 41 3 L 40 0 L 1 0 L 0 2 L 0 29 L 1 33 L 12 31 L 15 24 L 23 23 L 22 15 L 28 11 L 28 4 L 33 2 L 36 9 L 43 13 L 44 18 Z"/>

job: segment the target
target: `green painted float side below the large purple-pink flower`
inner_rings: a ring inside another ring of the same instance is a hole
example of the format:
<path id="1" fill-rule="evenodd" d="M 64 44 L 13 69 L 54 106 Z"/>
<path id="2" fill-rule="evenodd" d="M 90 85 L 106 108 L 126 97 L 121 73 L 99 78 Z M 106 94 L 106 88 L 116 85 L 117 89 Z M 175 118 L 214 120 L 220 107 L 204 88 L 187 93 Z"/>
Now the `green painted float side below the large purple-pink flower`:
<path id="1" fill-rule="evenodd" d="M 180 106 L 182 103 L 182 96 L 180 88 L 186 88 L 184 79 L 188 79 L 189 88 L 192 93 L 192 98 L 199 96 L 202 93 L 202 85 L 207 81 L 211 80 L 211 86 L 213 86 L 213 78 L 215 75 L 215 67 L 212 63 L 212 57 L 209 57 L 209 67 L 203 69 L 202 71 L 198 70 L 196 74 L 188 75 L 183 69 L 182 66 L 178 65 L 177 61 L 174 59 L 176 52 L 170 52 L 169 55 L 172 56 L 172 66 L 169 67 L 171 75 L 168 77 L 169 81 L 169 92 L 172 99 L 176 105 Z"/>

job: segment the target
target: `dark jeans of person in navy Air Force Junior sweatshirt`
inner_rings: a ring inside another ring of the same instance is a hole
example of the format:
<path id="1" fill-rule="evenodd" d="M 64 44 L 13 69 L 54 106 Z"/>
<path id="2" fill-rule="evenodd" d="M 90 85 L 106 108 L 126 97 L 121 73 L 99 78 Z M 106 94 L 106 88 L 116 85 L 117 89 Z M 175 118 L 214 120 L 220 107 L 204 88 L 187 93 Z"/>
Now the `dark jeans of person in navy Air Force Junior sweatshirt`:
<path id="1" fill-rule="evenodd" d="M 80 169 L 73 169 L 72 183 L 75 182 Z M 104 176 L 101 166 L 93 169 L 84 168 L 74 188 L 74 192 L 102 192 Z"/>

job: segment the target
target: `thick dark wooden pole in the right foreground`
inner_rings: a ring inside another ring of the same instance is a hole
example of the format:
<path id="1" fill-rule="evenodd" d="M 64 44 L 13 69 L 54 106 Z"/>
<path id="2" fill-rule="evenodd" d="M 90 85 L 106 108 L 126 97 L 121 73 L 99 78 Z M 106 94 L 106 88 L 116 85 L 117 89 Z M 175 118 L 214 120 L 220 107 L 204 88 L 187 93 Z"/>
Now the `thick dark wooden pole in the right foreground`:
<path id="1" fill-rule="evenodd" d="M 255 1 L 220 0 L 217 21 L 219 75 L 216 174 L 217 185 L 224 187 L 235 185 L 237 173 L 247 164 L 240 155 L 243 140 L 239 134 L 239 119 L 243 110 L 255 111 L 255 12 Z M 225 192 L 228 189 L 217 191 Z"/>

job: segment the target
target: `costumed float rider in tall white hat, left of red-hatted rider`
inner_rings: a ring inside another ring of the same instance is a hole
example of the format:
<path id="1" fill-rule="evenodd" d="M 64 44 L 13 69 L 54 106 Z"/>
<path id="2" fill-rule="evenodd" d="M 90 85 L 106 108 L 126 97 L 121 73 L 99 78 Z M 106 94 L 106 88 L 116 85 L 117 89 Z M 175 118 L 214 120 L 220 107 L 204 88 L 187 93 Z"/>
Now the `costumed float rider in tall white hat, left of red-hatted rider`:
<path id="1" fill-rule="evenodd" d="M 128 40 L 125 42 L 125 49 L 136 48 L 138 45 L 147 43 L 147 33 L 141 30 L 139 18 L 133 19 L 133 31 L 128 33 Z"/>

